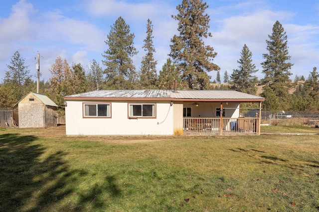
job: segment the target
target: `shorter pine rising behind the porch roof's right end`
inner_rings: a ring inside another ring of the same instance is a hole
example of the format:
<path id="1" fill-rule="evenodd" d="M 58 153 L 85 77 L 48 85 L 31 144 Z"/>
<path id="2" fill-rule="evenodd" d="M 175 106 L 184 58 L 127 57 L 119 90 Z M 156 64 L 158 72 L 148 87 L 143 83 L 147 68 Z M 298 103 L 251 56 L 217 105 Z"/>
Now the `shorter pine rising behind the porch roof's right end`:
<path id="1" fill-rule="evenodd" d="M 249 51 L 245 44 L 241 51 L 240 59 L 237 61 L 239 64 L 238 69 L 233 70 L 233 73 L 230 76 L 230 89 L 249 94 L 256 94 L 257 77 L 252 74 L 256 73 L 258 70 L 256 69 L 255 64 L 252 64 L 252 56 L 253 54 Z"/>

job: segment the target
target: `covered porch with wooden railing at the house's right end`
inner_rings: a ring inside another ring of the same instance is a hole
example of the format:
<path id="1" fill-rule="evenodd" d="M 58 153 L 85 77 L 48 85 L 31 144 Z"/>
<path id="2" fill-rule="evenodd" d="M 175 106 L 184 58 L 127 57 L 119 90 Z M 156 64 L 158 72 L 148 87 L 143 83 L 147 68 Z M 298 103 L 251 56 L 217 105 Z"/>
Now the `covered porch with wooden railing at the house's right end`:
<path id="1" fill-rule="evenodd" d="M 244 108 L 241 103 L 184 102 L 183 135 L 260 135 L 262 102 L 259 108 Z"/>

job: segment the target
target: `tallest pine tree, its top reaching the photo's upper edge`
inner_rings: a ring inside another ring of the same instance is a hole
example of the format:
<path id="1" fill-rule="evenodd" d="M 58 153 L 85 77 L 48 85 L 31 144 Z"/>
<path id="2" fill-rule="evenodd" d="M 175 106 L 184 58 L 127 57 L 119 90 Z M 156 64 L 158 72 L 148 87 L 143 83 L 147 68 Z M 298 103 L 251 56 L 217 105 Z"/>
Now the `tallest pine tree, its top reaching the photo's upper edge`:
<path id="1" fill-rule="evenodd" d="M 207 7 L 202 0 L 182 0 L 176 7 L 179 13 L 172 16 L 178 21 L 179 35 L 171 39 L 169 56 L 190 89 L 205 89 L 210 79 L 207 72 L 219 70 L 212 63 L 217 53 L 203 42 L 203 38 L 211 37 L 208 33 L 210 18 L 207 13 L 204 14 Z"/>

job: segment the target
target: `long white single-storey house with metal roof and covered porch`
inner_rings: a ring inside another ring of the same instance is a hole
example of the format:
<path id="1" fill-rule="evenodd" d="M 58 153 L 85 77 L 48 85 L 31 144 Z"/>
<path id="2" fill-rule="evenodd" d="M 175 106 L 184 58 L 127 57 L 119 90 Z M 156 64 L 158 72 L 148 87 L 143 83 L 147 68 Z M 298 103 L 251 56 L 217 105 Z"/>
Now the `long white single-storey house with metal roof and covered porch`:
<path id="1" fill-rule="evenodd" d="M 96 90 L 65 96 L 66 135 L 260 134 L 263 97 L 231 90 Z M 259 116 L 240 117 L 240 103 Z"/>

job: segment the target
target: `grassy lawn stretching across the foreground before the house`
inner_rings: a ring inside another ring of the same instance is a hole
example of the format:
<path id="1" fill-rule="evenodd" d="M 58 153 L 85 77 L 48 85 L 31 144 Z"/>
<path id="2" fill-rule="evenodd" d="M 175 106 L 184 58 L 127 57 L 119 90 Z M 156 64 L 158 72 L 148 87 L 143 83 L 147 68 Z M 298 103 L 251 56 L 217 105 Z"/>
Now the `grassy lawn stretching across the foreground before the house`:
<path id="1" fill-rule="evenodd" d="M 318 212 L 319 135 L 0 129 L 0 211 Z"/>

